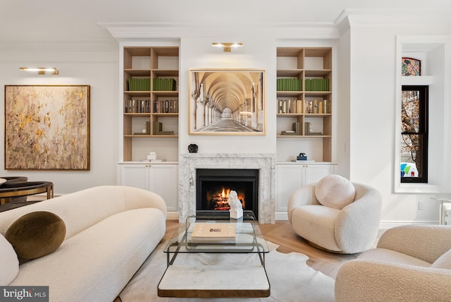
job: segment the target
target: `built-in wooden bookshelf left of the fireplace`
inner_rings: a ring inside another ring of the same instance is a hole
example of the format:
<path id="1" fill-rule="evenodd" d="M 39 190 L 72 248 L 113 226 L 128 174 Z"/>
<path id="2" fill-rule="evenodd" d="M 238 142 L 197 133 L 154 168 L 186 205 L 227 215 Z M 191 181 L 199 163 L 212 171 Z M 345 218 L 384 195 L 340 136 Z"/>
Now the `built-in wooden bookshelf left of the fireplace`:
<path id="1" fill-rule="evenodd" d="M 177 161 L 178 53 L 178 47 L 123 47 L 124 162 L 156 150 Z"/>

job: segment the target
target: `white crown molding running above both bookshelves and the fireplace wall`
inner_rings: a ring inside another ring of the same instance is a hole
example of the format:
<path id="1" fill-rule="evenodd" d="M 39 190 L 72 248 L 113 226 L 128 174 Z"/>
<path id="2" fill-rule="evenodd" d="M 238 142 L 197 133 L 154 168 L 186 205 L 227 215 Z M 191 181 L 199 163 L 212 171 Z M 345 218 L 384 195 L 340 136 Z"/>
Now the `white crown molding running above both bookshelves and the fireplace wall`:
<path id="1" fill-rule="evenodd" d="M 240 23 L 198 24 L 198 23 L 99 23 L 119 41 L 146 38 L 180 38 L 206 35 L 272 35 L 277 38 L 336 39 L 338 30 L 333 23 Z"/>

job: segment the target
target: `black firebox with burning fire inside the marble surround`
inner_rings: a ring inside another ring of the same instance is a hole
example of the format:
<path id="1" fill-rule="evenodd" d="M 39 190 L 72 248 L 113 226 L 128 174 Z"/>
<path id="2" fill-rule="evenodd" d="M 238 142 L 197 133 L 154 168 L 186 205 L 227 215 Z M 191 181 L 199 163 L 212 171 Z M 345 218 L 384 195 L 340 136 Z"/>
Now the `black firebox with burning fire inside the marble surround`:
<path id="1" fill-rule="evenodd" d="M 196 211 L 228 211 L 228 194 L 235 191 L 243 210 L 258 219 L 258 169 L 197 169 Z"/>

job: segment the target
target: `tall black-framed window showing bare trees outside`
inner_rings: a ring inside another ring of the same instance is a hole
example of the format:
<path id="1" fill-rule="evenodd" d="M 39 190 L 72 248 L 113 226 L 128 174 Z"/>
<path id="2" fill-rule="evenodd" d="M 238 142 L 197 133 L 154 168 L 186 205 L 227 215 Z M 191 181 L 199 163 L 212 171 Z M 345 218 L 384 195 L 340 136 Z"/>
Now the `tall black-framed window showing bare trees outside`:
<path id="1" fill-rule="evenodd" d="M 402 183 L 428 182 L 428 86 L 402 86 Z"/>

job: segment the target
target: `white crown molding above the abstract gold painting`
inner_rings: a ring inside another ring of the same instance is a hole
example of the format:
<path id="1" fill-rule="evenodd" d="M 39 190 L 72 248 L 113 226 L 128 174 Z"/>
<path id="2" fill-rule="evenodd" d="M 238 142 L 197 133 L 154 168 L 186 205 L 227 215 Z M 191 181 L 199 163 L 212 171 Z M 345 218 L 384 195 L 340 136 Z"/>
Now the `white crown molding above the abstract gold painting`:
<path id="1" fill-rule="evenodd" d="M 32 52 L 52 51 L 73 51 L 73 52 L 99 52 L 112 51 L 118 49 L 116 40 L 104 41 L 27 41 L 27 42 L 1 42 L 1 50 L 14 50 Z"/>

